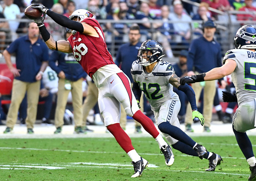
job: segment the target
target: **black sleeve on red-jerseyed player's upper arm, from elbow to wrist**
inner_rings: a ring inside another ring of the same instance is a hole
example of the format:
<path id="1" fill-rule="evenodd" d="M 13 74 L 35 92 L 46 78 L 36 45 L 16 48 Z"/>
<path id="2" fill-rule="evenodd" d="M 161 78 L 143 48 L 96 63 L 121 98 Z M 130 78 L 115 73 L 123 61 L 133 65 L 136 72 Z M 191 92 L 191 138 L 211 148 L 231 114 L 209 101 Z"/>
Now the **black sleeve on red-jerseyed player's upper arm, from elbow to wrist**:
<path id="1" fill-rule="evenodd" d="M 66 16 L 53 12 L 50 9 L 47 10 L 47 15 L 49 15 L 53 19 L 53 21 L 55 21 L 56 23 L 63 27 L 78 31 L 80 33 L 84 32 L 84 27 L 80 22 L 72 21 Z"/>

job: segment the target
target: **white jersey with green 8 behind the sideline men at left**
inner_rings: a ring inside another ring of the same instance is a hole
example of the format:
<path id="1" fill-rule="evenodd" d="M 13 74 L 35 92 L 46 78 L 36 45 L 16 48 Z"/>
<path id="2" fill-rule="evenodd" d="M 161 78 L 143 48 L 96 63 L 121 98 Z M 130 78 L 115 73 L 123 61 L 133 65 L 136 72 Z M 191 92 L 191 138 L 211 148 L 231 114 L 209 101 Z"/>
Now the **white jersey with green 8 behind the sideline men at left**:
<path id="1" fill-rule="evenodd" d="M 56 72 L 51 69 L 51 67 L 46 67 L 42 81 L 44 87 L 49 89 L 51 93 L 54 94 L 58 92 L 59 77 L 57 76 Z"/>

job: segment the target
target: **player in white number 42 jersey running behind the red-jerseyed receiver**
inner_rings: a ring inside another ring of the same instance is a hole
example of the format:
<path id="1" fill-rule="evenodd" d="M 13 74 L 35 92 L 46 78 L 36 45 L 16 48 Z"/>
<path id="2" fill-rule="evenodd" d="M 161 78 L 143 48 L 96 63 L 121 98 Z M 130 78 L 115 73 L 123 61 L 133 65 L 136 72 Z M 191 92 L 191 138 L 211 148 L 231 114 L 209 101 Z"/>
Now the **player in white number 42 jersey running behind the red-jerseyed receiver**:
<path id="1" fill-rule="evenodd" d="M 147 40 L 138 50 L 138 60 L 134 61 L 131 67 L 131 74 L 134 79 L 132 90 L 139 103 L 141 90 L 150 102 L 154 111 L 156 123 L 159 130 L 164 134 L 172 147 L 192 156 L 199 156 L 200 159 L 209 160 L 209 168 L 206 171 L 215 171 L 215 167 L 222 161 L 221 156 L 210 153 L 200 144 L 197 144 L 185 132 L 180 129 L 177 118 L 181 107 L 178 95 L 173 92 L 173 86 L 183 91 L 190 101 L 193 119 L 199 119 L 203 126 L 203 115 L 197 111 L 194 90 L 187 84 L 180 85 L 180 78 L 167 61 L 162 61 L 163 49 L 159 42 Z"/>

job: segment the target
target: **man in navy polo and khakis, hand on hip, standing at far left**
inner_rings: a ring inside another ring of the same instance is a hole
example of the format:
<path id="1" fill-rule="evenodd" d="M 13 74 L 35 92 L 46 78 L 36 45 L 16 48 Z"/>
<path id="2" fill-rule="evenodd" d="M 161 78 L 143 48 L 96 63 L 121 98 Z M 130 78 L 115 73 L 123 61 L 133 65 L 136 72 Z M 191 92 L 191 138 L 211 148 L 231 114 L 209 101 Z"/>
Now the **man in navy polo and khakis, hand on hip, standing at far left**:
<path id="1" fill-rule="evenodd" d="M 12 98 L 6 118 L 6 130 L 10 133 L 18 117 L 19 106 L 27 92 L 28 116 L 26 124 L 28 133 L 34 133 L 37 104 L 40 91 L 40 80 L 48 65 L 48 47 L 39 37 L 37 24 L 31 22 L 28 26 L 28 35 L 12 42 L 4 51 L 3 56 L 10 71 L 14 75 L 12 84 Z M 16 67 L 11 62 L 11 54 L 16 54 Z"/>

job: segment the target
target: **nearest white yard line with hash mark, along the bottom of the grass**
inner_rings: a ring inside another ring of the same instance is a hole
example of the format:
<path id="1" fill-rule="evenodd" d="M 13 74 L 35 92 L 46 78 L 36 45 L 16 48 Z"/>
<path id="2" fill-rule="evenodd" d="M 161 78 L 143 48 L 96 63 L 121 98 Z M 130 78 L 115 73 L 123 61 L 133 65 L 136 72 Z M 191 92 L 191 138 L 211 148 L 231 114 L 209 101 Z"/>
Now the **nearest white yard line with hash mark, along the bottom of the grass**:
<path id="1" fill-rule="evenodd" d="M 18 163 L 16 163 L 18 164 Z M 50 165 L 54 165 L 54 166 L 59 166 L 59 167 L 53 167 L 53 166 L 49 166 L 45 165 L 45 164 L 23 164 L 23 165 L 16 165 L 16 164 L 11 164 L 11 165 L 1 165 L 0 163 L 0 169 L 10 169 L 10 170 L 15 170 L 15 169 L 66 169 L 66 167 L 88 167 L 88 168 L 107 168 L 107 169 L 132 169 L 132 166 L 129 164 L 119 164 L 119 163 L 86 163 L 84 162 L 83 164 L 81 163 L 69 163 L 71 165 L 68 164 L 58 164 L 58 163 L 53 163 Z M 79 164 L 79 165 L 78 165 Z M 38 166 L 40 165 L 40 166 Z M 45 166 L 44 166 L 45 165 Z M 91 166 L 91 165 L 95 165 L 95 166 Z M 3 167 L 4 166 L 4 167 Z M 64 167 L 60 167 L 60 166 L 64 166 Z M 120 166 L 128 166 L 130 168 L 120 168 Z M 8 168 L 9 167 L 9 168 Z M 15 167 L 20 167 L 20 168 L 15 168 Z M 24 167 L 24 168 L 22 168 Z M 147 166 L 148 168 L 158 168 L 158 166 L 153 165 L 153 164 L 149 164 Z M 171 169 L 153 169 L 155 171 L 168 171 L 168 172 L 194 172 L 194 173 L 209 173 L 209 172 L 205 172 L 205 171 L 187 171 L 187 170 L 171 170 Z M 248 176 L 249 174 L 237 174 L 237 173 L 226 173 L 226 172 L 211 172 L 211 174 L 223 174 L 223 175 L 239 175 L 239 176 Z"/>

